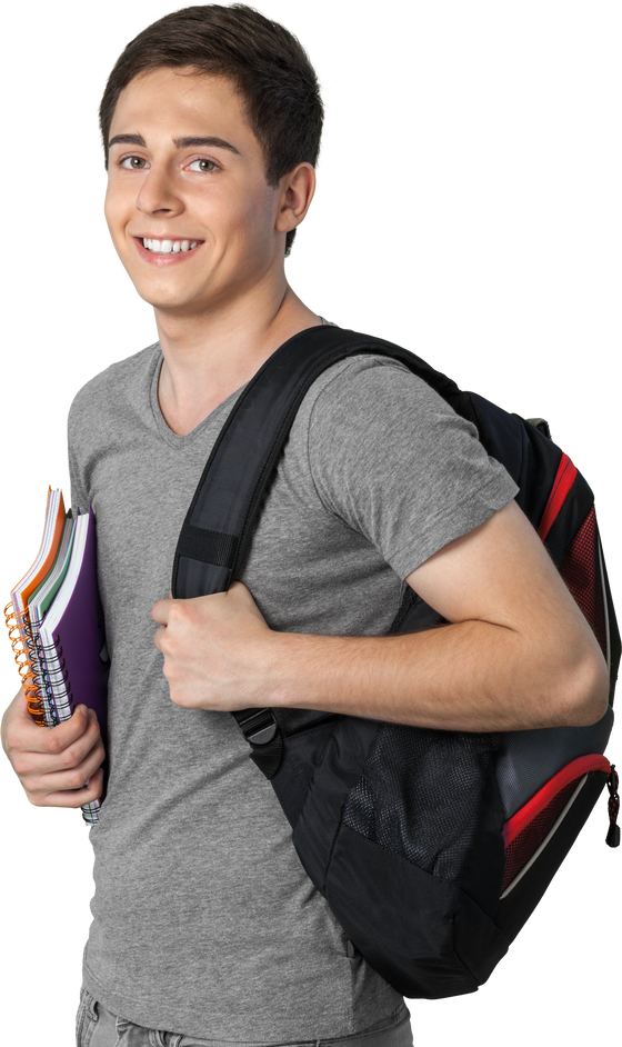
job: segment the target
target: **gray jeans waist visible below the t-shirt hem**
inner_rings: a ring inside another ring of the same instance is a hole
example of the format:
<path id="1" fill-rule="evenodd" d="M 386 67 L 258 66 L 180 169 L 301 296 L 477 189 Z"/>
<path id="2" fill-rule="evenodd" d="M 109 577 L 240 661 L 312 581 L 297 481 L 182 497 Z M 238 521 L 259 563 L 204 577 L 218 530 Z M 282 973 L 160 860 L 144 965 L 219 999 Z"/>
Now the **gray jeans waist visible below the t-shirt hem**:
<path id="1" fill-rule="evenodd" d="M 213 1040 L 183 1033 L 148 1029 L 111 1014 L 80 985 L 74 1015 L 73 1047 L 211 1047 Z M 354 1033 L 338 1039 L 295 1040 L 280 1047 L 413 1047 L 414 1026 L 404 1000 L 382 1029 Z M 384 1023 L 382 1023 L 384 1025 Z M 252 1047 L 252 1045 L 245 1045 Z M 261 1045 L 257 1045 L 261 1047 Z"/>

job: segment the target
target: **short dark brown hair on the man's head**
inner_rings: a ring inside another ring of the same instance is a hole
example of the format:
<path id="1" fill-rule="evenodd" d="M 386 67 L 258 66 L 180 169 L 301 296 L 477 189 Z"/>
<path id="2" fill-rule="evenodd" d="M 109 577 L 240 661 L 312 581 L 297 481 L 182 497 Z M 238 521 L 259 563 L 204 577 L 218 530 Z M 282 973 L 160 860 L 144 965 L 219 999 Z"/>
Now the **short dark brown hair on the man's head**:
<path id="1" fill-rule="evenodd" d="M 244 116 L 263 148 L 265 180 L 275 189 L 297 163 L 318 170 L 325 122 L 318 72 L 300 39 L 275 19 L 239 0 L 191 3 L 140 29 L 116 58 L 101 93 L 98 137 L 108 174 L 110 124 L 121 91 L 139 73 L 194 67 L 224 76 L 243 99 Z M 298 235 L 285 237 L 285 259 Z"/>

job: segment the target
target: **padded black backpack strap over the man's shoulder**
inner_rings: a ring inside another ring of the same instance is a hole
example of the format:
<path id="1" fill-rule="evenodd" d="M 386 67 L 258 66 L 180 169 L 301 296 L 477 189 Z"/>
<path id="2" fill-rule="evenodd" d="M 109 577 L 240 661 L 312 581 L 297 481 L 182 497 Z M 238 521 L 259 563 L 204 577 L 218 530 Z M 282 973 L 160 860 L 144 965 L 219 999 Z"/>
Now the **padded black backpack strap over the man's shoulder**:
<path id="1" fill-rule="evenodd" d="M 272 473 L 310 386 L 333 363 L 364 352 L 405 363 L 448 396 L 460 387 L 403 346 L 345 328 L 312 327 L 282 345 L 234 403 L 181 528 L 173 597 L 223 592 L 239 574 Z"/>

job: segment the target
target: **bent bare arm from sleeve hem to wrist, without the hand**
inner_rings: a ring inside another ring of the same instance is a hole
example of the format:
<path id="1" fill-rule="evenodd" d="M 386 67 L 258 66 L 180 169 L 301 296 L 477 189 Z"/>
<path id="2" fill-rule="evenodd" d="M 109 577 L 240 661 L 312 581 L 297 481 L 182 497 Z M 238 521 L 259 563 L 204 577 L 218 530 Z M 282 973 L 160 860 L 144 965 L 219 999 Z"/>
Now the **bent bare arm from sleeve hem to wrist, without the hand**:
<path id="1" fill-rule="evenodd" d="M 450 624 L 392 637 L 274 634 L 281 678 L 271 704 L 466 731 L 604 716 L 602 651 L 514 500 L 407 581 Z"/>

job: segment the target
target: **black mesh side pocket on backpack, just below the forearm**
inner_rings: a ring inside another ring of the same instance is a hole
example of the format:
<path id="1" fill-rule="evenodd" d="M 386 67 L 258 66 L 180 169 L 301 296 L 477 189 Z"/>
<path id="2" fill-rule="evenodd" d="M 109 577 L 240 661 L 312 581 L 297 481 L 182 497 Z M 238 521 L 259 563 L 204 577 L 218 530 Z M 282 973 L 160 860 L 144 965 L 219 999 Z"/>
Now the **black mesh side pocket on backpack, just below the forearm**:
<path id="1" fill-rule="evenodd" d="M 343 824 L 425 873 L 457 879 L 499 745 L 492 734 L 381 724 Z"/>

